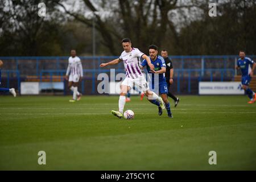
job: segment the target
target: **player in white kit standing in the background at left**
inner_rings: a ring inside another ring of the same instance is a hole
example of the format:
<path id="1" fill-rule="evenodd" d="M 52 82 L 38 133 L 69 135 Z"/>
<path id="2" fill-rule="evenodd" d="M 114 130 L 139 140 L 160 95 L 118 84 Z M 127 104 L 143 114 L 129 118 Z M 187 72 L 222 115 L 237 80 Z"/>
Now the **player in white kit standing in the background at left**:
<path id="1" fill-rule="evenodd" d="M 81 60 L 76 56 L 76 50 L 71 50 L 71 56 L 68 59 L 68 68 L 66 73 L 68 88 L 73 91 L 73 100 L 69 100 L 69 102 L 75 102 L 81 99 L 81 93 L 78 92 L 77 87 L 83 76 L 84 73 L 82 71 Z"/>

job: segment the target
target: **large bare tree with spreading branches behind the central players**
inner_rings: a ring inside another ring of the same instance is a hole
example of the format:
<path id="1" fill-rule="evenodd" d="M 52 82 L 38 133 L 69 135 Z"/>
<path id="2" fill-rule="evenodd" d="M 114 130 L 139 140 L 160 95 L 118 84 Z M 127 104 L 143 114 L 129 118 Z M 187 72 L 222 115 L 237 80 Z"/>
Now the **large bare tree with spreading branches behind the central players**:
<path id="1" fill-rule="evenodd" d="M 161 47 L 166 41 L 167 30 L 174 35 L 171 41 L 177 42 L 177 32 L 170 11 L 197 5 L 197 1 L 183 5 L 177 0 L 114 0 L 110 1 L 111 4 L 104 0 L 97 3 L 90 0 L 82 2 L 86 10 L 94 15 L 97 31 L 102 36 L 101 43 L 108 47 L 113 55 L 118 55 L 120 49 L 117 47 L 123 37 L 131 38 L 134 46 L 142 51 L 147 51 L 149 44 Z M 64 1 L 57 3 L 65 13 L 92 27 L 92 20 L 84 16 L 84 12 L 77 13 L 73 7 L 67 8 Z M 113 16 L 102 20 L 98 12 L 106 4 L 106 8 L 112 11 Z"/>

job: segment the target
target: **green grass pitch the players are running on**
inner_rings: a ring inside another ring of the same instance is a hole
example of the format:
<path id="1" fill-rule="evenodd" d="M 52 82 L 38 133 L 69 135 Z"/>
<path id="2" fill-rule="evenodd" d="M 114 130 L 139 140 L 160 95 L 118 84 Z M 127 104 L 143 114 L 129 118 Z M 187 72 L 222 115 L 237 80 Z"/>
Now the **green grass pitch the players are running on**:
<path id="1" fill-rule="evenodd" d="M 0 97 L 1 170 L 256 169 L 256 104 L 246 96 L 180 96 L 172 119 L 132 96 L 131 121 L 110 113 L 118 96 L 70 98 Z"/>

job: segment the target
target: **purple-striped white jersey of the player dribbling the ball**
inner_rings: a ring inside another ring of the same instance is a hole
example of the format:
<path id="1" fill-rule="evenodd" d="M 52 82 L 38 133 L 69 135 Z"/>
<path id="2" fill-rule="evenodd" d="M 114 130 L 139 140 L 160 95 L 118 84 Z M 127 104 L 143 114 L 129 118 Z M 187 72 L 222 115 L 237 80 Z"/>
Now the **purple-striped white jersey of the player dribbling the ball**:
<path id="1" fill-rule="evenodd" d="M 130 52 L 123 51 L 121 53 L 119 59 L 122 60 L 125 65 L 126 77 L 134 79 L 142 76 L 139 65 L 141 56 L 143 55 L 144 53 L 139 51 L 137 48 L 132 48 Z"/>

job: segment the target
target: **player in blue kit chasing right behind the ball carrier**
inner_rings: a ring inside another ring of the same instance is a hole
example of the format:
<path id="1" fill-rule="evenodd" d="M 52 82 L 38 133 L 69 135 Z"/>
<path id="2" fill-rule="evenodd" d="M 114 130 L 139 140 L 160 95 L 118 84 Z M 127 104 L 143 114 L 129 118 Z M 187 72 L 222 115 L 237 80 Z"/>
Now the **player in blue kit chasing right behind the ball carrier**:
<path id="1" fill-rule="evenodd" d="M 172 118 L 172 113 L 171 113 L 171 107 L 170 107 L 170 102 L 168 101 L 167 94 L 168 94 L 168 89 L 167 89 L 167 83 L 166 83 L 166 77 L 165 77 L 165 72 L 166 72 L 166 64 L 164 63 L 164 59 L 162 56 L 158 55 L 158 47 L 155 45 L 151 45 L 148 47 L 148 51 L 150 54 L 150 61 L 151 64 L 154 65 L 154 70 L 150 69 L 148 67 L 147 61 L 143 60 L 141 63 L 141 68 L 147 66 L 147 73 L 152 73 L 150 75 L 150 89 L 155 90 L 154 92 L 160 93 L 164 104 L 166 104 L 166 110 L 168 113 L 168 117 Z M 158 74 L 158 83 L 155 83 L 155 74 Z M 158 90 L 156 90 L 158 89 Z M 159 102 L 156 100 L 148 100 L 152 104 L 155 104 L 158 106 L 158 114 L 162 115 L 163 110 L 161 109 Z"/>

